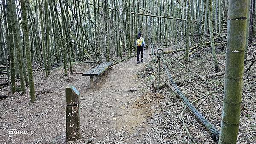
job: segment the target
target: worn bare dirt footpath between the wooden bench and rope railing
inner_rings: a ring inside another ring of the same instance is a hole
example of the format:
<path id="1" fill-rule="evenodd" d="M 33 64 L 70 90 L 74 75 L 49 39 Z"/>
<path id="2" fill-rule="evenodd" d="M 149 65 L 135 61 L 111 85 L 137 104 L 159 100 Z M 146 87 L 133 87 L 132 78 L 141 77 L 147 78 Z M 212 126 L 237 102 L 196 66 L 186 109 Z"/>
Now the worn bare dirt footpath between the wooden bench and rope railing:
<path id="1" fill-rule="evenodd" d="M 87 136 L 94 136 L 94 142 L 143 141 L 139 135 L 145 128 L 147 116 L 143 109 L 134 105 L 143 94 L 140 92 L 141 82 L 137 79 L 142 65 L 136 64 L 136 57 L 115 65 L 94 81 L 92 89 L 81 91 L 81 99 L 84 99 L 81 100 L 81 128 L 86 130 Z"/>

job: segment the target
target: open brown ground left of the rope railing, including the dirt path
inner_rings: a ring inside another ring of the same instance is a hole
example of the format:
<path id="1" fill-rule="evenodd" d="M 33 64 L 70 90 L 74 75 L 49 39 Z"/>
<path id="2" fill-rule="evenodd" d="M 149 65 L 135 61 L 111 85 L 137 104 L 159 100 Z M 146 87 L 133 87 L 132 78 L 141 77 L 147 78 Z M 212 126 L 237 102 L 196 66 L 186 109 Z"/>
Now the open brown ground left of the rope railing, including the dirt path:
<path id="1" fill-rule="evenodd" d="M 148 61 L 145 51 L 144 60 Z M 144 140 L 150 111 L 137 105 L 145 94 L 143 81 L 137 74 L 143 64 L 136 57 L 114 65 L 89 88 L 89 77 L 81 74 L 63 76 L 63 68 L 55 69 L 48 78 L 44 71 L 35 73 L 37 101 L 29 102 L 29 94 L 10 95 L 9 87 L 1 93 L 9 98 L 0 100 L 0 143 L 65 143 L 65 87 L 74 85 L 80 92 L 80 128 L 84 143 L 148 143 Z M 83 73 L 92 65 L 75 64 L 74 73 Z M 127 92 L 122 90 L 137 90 Z M 27 92 L 29 90 L 27 89 Z M 10 131 L 28 134 L 10 134 Z"/>

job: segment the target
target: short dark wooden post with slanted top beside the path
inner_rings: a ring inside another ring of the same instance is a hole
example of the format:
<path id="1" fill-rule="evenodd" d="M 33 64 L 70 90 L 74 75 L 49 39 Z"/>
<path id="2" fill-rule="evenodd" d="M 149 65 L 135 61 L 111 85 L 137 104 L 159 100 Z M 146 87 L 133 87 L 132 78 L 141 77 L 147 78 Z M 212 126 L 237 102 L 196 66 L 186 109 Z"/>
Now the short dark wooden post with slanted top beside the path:
<path id="1" fill-rule="evenodd" d="M 79 91 L 74 86 L 66 87 L 66 141 L 75 141 L 80 137 L 79 97 Z"/>

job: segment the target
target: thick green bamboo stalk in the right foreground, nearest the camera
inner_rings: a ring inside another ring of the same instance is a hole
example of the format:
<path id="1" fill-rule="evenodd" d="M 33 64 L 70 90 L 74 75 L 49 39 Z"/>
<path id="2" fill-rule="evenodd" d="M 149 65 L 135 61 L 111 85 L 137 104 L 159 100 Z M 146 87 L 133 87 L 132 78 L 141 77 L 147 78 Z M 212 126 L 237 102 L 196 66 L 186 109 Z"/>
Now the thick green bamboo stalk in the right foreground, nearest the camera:
<path id="1" fill-rule="evenodd" d="M 225 88 L 219 144 L 236 144 L 237 142 L 242 102 L 248 2 L 248 0 L 229 0 Z"/>

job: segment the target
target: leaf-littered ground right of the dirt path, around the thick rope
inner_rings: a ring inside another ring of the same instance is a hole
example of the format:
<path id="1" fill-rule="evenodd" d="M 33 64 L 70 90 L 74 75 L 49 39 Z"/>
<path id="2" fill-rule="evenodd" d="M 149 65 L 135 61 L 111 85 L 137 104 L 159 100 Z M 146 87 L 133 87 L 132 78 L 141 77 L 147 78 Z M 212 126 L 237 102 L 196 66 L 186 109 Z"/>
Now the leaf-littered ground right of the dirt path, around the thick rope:
<path id="1" fill-rule="evenodd" d="M 178 45 L 176 49 L 182 48 Z M 252 63 L 256 57 L 256 45 L 248 49 L 247 62 L 244 70 Z M 165 48 L 164 50 L 173 50 Z M 203 116 L 213 124 L 218 130 L 221 126 L 221 110 L 224 93 L 224 75 L 208 77 L 210 74 L 225 71 L 225 51 L 221 47 L 216 47 L 219 70 L 215 71 L 211 48 L 204 48 L 200 53 L 189 57 L 187 64 L 184 60 L 180 62 L 187 68 L 175 62 L 171 58 L 177 59 L 183 52 L 165 54 L 163 61 L 168 64 L 170 73 L 174 80 L 186 80 L 178 84 L 180 91 L 190 102 L 197 101 L 193 105 L 203 114 Z M 163 63 L 163 62 L 162 62 Z M 157 64 L 149 62 L 144 66 L 143 77 L 149 79 L 145 81 L 147 85 L 157 85 Z M 160 82 L 169 82 L 163 66 L 160 71 Z M 190 70 L 189 70 L 190 69 Z M 193 71 L 193 72 L 192 72 Z M 195 74 L 197 73 L 197 74 Z M 197 75 L 205 78 L 200 79 Z M 248 80 L 249 79 L 249 80 Z M 244 74 L 243 91 L 241 103 L 241 116 L 239 123 L 238 144 L 256 144 L 256 65 Z M 216 91 L 216 92 L 214 92 Z M 214 144 L 209 132 L 197 120 L 189 110 L 184 110 L 185 106 L 169 88 L 163 88 L 160 93 L 164 98 L 160 101 L 157 111 L 153 114 L 151 124 L 151 139 L 166 144 Z M 201 97 L 203 97 L 201 99 Z"/>

